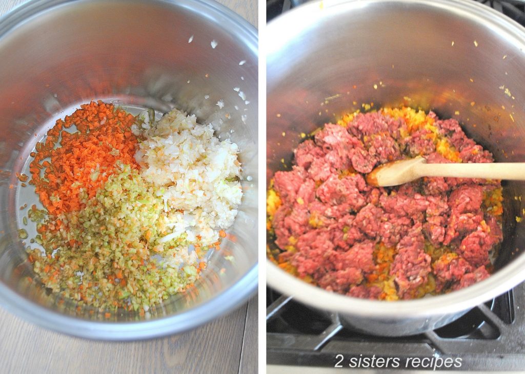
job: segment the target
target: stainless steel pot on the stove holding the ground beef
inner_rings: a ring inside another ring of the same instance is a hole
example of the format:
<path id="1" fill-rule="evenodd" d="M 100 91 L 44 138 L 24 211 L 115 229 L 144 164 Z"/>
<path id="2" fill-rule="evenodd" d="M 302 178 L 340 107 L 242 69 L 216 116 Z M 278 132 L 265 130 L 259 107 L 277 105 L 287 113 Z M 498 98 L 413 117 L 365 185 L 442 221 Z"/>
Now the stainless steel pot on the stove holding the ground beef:
<path id="1" fill-rule="evenodd" d="M 457 118 L 497 161 L 525 159 L 525 29 L 471 0 L 309 2 L 267 28 L 267 175 L 291 160 L 300 133 L 344 112 L 401 104 Z M 282 133 L 286 136 L 283 137 Z M 330 293 L 272 263 L 267 282 L 343 323 L 377 335 L 446 324 L 525 279 L 525 184 L 505 182 L 496 272 L 467 289 L 381 302 Z M 514 198 L 516 196 L 516 200 Z"/>

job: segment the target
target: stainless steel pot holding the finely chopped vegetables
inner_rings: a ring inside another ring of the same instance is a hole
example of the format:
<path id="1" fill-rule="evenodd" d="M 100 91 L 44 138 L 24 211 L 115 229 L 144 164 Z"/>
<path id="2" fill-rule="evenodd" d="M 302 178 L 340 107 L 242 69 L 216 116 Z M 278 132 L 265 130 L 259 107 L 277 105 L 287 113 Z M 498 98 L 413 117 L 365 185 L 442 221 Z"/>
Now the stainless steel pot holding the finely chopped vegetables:
<path id="1" fill-rule="evenodd" d="M 255 292 L 257 43 L 253 26 L 208 0 L 34 0 L 0 19 L 0 302 L 7 310 L 72 335 L 136 339 L 203 324 Z M 144 317 L 122 312 L 106 320 L 62 303 L 38 279 L 28 281 L 34 273 L 17 237 L 19 206 L 36 200 L 15 173 L 56 118 L 98 99 L 130 111 L 176 106 L 241 148 L 245 195 L 230 230 L 235 243 L 214 251 L 194 288 Z"/>

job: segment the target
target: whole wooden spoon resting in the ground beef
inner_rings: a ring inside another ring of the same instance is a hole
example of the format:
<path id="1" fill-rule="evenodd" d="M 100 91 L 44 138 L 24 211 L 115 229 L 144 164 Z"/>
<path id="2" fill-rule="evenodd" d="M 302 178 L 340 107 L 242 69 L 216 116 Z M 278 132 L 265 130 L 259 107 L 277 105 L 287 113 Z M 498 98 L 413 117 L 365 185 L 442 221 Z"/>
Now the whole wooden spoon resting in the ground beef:
<path id="1" fill-rule="evenodd" d="M 366 175 L 376 187 L 396 186 L 422 177 L 525 180 L 525 162 L 426 163 L 416 158 L 382 164 Z"/>

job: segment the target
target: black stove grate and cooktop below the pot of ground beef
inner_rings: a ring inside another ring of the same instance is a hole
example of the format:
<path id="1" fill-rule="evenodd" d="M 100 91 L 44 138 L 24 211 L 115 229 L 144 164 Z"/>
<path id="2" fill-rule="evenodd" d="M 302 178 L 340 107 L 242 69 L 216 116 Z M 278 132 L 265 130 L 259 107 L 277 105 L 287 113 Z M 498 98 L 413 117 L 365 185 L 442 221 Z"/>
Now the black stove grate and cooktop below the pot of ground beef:
<path id="1" fill-rule="evenodd" d="M 459 357 L 461 370 L 520 370 L 525 368 L 525 283 L 444 327 L 404 337 L 354 332 L 341 325 L 337 313 L 327 317 L 267 289 L 266 328 L 267 363 L 272 365 L 334 367 L 342 357 L 341 365 L 348 368 L 351 358 L 375 355 L 402 363 Z"/>

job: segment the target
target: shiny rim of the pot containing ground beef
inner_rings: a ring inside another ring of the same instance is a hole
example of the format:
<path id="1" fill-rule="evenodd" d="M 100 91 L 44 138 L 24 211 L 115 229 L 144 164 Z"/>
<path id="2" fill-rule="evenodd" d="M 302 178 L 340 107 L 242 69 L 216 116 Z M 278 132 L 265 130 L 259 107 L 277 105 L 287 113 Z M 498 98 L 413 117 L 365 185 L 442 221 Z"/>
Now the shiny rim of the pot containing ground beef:
<path id="1" fill-rule="evenodd" d="M 319 19 L 323 12 L 345 12 L 358 9 L 370 4 L 395 4 L 399 6 L 411 6 L 414 4 L 447 10 L 451 14 L 458 15 L 477 23 L 495 29 L 498 34 L 504 35 L 507 40 L 512 40 L 522 49 L 525 49 L 525 28 L 516 21 L 502 15 L 495 9 L 486 5 L 472 2 L 471 0 L 324 0 L 313 1 L 301 5 L 276 17 L 268 23 L 268 40 L 272 36 L 278 37 L 278 46 L 286 45 L 289 39 L 283 37 L 286 34 L 282 30 L 287 25 L 304 25 L 309 27 L 308 20 Z M 344 7 L 344 9 L 343 9 Z M 301 20 L 299 23 L 298 20 Z M 301 29 L 296 29 L 296 35 Z M 271 60 L 272 50 L 268 52 L 268 61 Z M 268 74 L 269 75 L 269 74 Z M 271 87 L 267 89 L 268 95 Z M 517 284 L 525 280 L 525 253 L 514 258 L 504 268 L 481 282 L 470 287 L 454 291 L 448 294 L 429 296 L 416 300 L 402 300 L 397 302 L 385 302 L 379 300 L 365 300 L 353 298 L 342 294 L 326 291 L 307 282 L 300 280 L 281 270 L 267 259 L 266 279 L 270 287 L 277 291 L 291 295 L 302 303 L 311 305 L 321 310 L 348 313 L 361 317 L 372 317 L 381 319 L 402 319 L 406 317 L 429 317 L 444 314 L 453 314 L 468 310 L 476 305 L 484 303 L 498 295 L 507 292 Z"/>

